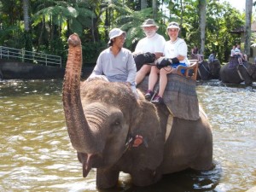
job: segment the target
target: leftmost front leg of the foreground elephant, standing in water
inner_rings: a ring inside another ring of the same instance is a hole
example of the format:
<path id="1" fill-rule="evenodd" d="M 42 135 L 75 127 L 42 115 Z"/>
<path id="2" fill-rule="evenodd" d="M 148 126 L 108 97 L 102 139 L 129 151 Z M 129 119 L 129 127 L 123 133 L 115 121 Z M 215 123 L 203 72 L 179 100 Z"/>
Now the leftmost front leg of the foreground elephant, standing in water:
<path id="1" fill-rule="evenodd" d="M 119 171 L 113 168 L 97 168 L 96 187 L 98 189 L 109 189 L 114 187 L 119 180 Z"/>

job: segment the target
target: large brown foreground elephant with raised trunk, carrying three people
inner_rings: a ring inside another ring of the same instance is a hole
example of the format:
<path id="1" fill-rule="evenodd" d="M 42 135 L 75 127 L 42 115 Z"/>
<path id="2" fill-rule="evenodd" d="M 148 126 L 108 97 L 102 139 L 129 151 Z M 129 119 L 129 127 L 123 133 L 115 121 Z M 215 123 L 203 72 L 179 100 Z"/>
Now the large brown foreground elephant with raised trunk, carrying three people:
<path id="1" fill-rule="evenodd" d="M 129 173 L 136 186 L 148 186 L 168 173 L 212 169 L 212 131 L 202 109 L 200 119 L 179 119 L 140 90 L 137 98 L 129 84 L 81 82 L 82 45 L 76 33 L 68 46 L 62 90 L 67 132 L 83 177 L 96 168 L 97 189 L 114 187 L 119 172 Z"/>

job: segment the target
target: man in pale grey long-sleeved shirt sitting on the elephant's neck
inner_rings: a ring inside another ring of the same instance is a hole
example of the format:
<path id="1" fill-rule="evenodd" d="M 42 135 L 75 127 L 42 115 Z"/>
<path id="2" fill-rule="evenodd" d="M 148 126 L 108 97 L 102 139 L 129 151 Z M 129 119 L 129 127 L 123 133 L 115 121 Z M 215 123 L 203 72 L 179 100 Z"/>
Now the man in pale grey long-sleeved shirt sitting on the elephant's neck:
<path id="1" fill-rule="evenodd" d="M 109 47 L 99 55 L 96 66 L 88 79 L 107 78 L 110 82 L 127 82 L 136 92 L 137 69 L 131 51 L 123 48 L 125 36 L 126 32 L 119 28 L 113 28 L 109 32 Z"/>

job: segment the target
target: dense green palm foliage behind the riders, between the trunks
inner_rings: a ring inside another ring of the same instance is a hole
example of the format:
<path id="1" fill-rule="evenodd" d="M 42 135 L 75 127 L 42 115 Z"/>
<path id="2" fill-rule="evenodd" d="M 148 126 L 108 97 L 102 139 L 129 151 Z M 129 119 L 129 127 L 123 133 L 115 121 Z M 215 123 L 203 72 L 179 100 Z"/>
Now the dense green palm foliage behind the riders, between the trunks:
<path id="1" fill-rule="evenodd" d="M 134 50 L 144 37 L 141 25 L 153 18 L 152 1 L 148 9 L 140 9 L 140 1 L 123 0 L 30 0 L 31 31 L 24 32 L 21 0 L 0 2 L 0 44 L 16 49 L 33 49 L 67 58 L 67 38 L 77 32 L 82 39 L 84 63 L 95 63 L 102 49 L 106 49 L 108 32 L 120 27 L 127 32 L 125 47 Z M 176 20 L 182 26 L 180 37 L 189 49 L 200 47 L 199 0 L 158 1 L 155 21 L 158 32 L 166 40 L 166 25 Z M 255 6 L 255 4 L 253 5 Z M 229 3 L 207 1 L 205 56 L 213 50 L 218 59 L 227 61 L 233 44 L 240 43 L 239 35 L 230 31 L 243 26 L 245 15 Z M 252 36 L 252 42 L 255 42 Z M 28 47 L 32 44 L 32 48 Z"/>

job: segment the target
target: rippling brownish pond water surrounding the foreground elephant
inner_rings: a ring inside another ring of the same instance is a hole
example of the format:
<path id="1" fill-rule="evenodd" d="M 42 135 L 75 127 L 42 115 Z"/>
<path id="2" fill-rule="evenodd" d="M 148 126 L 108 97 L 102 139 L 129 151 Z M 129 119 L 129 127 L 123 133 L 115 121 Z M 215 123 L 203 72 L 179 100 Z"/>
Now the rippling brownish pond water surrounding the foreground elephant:
<path id="1" fill-rule="evenodd" d="M 61 80 L 0 82 L 0 191 L 98 191 L 86 179 L 67 135 Z M 199 83 L 198 98 L 212 125 L 214 168 L 164 177 L 146 188 L 120 174 L 108 191 L 245 191 L 256 185 L 256 85 Z M 103 191 L 103 190 L 102 190 Z"/>

